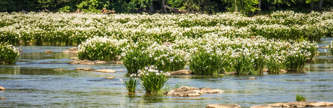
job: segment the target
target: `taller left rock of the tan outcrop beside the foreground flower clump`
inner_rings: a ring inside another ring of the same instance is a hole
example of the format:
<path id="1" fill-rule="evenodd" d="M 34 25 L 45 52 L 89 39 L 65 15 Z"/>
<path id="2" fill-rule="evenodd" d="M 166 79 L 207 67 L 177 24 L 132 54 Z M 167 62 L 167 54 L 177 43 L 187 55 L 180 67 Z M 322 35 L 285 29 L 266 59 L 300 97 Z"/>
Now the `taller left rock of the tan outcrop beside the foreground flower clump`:
<path id="1" fill-rule="evenodd" d="M 172 95 L 172 96 L 201 96 L 201 94 L 203 94 L 202 91 L 197 90 L 197 88 L 190 88 L 190 87 L 186 87 L 186 86 L 182 86 L 178 89 L 173 89 L 170 90 L 168 93 L 168 95 Z"/>

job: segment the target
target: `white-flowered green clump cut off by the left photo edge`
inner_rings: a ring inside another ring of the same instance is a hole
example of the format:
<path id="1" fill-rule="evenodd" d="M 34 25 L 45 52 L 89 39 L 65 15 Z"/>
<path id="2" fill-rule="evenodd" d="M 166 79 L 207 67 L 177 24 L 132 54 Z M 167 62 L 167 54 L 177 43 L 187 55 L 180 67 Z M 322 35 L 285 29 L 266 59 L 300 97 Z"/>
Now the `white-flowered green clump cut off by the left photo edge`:
<path id="1" fill-rule="evenodd" d="M 20 53 L 16 47 L 7 45 L 7 43 L 0 43 L 0 64 L 15 63 L 19 56 Z"/>

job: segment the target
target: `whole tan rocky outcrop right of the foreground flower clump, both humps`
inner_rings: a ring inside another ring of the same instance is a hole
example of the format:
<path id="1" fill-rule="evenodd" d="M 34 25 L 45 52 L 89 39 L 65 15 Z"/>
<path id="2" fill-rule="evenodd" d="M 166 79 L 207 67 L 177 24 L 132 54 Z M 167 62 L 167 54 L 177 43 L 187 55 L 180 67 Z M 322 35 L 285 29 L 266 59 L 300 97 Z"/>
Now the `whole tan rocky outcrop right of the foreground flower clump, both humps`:
<path id="1" fill-rule="evenodd" d="M 211 89 L 211 88 L 194 88 L 194 87 L 186 87 L 182 86 L 178 89 L 173 89 L 167 92 L 167 95 L 172 96 L 201 96 L 201 94 L 205 93 L 223 93 L 224 90 L 219 89 Z"/>

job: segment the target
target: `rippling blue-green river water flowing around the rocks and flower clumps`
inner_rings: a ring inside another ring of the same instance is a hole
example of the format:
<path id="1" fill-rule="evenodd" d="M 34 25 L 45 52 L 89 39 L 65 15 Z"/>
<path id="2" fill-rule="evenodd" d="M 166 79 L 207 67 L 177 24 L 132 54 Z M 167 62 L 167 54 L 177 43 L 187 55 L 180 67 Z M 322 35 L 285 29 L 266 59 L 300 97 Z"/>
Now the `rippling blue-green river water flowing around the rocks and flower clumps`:
<path id="1" fill-rule="evenodd" d="M 333 38 L 323 38 L 326 46 Z M 225 93 L 197 97 L 172 97 L 146 93 L 127 93 L 120 79 L 127 78 L 122 64 L 68 64 L 76 54 L 61 53 L 71 48 L 18 46 L 23 52 L 15 64 L 0 65 L 2 107 L 141 107 L 203 108 L 208 104 L 239 104 L 242 107 L 295 101 L 303 94 L 307 101 L 333 102 L 333 60 L 321 53 L 306 65 L 304 72 L 264 75 L 176 75 L 170 86 L 185 83 L 191 87 L 225 90 Z M 54 53 L 44 53 L 52 50 Z M 319 49 L 324 52 L 324 49 Z M 75 70 L 77 67 L 112 69 L 117 73 Z M 64 69 L 55 71 L 54 69 Z M 115 79 L 103 79 L 115 77 Z M 256 80 L 239 80 L 255 77 Z M 141 91 L 140 85 L 137 91 Z"/>

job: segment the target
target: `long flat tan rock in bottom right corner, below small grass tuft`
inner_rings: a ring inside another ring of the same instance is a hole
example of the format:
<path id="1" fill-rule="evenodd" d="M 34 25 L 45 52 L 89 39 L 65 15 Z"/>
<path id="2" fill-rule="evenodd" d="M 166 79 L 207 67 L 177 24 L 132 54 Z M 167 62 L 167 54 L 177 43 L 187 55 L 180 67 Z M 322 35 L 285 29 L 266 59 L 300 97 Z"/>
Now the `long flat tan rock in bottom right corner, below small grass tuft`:
<path id="1" fill-rule="evenodd" d="M 316 101 L 295 101 L 288 103 L 270 104 L 271 107 L 332 107 L 333 102 L 316 102 Z"/>

